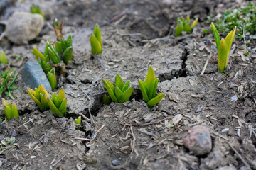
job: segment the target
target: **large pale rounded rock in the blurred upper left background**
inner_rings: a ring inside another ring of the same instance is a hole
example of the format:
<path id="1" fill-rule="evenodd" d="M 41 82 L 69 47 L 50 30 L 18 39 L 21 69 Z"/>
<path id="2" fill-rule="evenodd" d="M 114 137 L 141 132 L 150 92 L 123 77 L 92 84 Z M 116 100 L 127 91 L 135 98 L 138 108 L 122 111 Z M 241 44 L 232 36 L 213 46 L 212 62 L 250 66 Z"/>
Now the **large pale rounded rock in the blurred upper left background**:
<path id="1" fill-rule="evenodd" d="M 41 32 L 43 16 L 26 12 L 16 12 L 7 21 L 6 37 L 16 45 L 28 44 Z"/>

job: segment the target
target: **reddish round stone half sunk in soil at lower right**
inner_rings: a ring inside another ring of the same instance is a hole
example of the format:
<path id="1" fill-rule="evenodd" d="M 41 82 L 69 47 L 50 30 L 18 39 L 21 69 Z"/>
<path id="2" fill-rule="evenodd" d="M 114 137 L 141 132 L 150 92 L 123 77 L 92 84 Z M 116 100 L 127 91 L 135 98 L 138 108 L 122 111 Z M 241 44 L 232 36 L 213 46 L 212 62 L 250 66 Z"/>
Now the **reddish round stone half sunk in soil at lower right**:
<path id="1" fill-rule="evenodd" d="M 190 150 L 191 154 L 208 154 L 212 148 L 209 129 L 203 125 L 194 126 L 191 130 L 188 130 L 184 145 Z"/>

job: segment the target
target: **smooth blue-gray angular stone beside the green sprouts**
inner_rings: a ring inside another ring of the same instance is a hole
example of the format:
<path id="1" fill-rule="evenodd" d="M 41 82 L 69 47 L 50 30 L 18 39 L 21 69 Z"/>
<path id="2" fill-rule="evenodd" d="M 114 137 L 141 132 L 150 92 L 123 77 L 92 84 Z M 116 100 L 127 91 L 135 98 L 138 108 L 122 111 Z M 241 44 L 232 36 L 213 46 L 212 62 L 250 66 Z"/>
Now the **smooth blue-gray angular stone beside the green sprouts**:
<path id="1" fill-rule="evenodd" d="M 41 65 L 37 62 L 26 62 L 23 69 L 22 80 L 31 89 L 38 88 L 39 84 L 43 84 L 47 91 L 51 91 L 50 83 L 43 72 Z"/>

